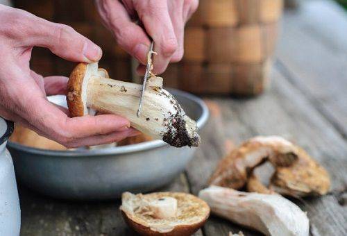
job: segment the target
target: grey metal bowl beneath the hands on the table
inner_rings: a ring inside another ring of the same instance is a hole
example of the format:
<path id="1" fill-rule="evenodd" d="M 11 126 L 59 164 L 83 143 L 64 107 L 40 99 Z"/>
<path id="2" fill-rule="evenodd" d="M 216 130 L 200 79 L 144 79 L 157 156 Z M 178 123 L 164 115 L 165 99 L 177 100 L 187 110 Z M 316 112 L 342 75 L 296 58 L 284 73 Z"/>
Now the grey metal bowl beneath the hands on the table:
<path id="1" fill-rule="evenodd" d="M 198 97 L 170 90 L 202 128 L 208 108 Z M 49 100 L 66 106 L 65 96 Z M 105 149 L 52 151 L 8 142 L 17 179 L 37 192 L 61 199 L 115 199 L 122 192 L 149 192 L 185 169 L 195 149 L 154 140 Z"/>

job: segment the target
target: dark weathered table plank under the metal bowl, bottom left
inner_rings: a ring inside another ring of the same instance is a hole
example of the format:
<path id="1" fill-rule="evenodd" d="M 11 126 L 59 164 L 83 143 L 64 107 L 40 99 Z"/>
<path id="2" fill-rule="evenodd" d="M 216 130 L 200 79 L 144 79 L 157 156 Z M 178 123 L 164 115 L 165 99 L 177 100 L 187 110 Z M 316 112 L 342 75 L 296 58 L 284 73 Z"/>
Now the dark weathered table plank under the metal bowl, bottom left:
<path id="1" fill-rule="evenodd" d="M 187 179 L 180 174 L 162 191 L 189 192 Z M 79 202 L 51 199 L 26 187 L 19 187 L 23 236 L 50 235 L 137 235 L 119 212 L 120 201 Z M 201 236 L 199 230 L 196 236 Z"/>

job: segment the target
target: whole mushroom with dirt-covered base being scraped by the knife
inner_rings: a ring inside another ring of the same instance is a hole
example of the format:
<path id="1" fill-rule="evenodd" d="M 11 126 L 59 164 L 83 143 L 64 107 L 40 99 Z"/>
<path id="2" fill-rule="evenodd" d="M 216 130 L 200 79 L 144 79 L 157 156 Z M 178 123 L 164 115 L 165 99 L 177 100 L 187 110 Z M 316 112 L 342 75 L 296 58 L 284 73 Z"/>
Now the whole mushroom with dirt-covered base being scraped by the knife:
<path id="1" fill-rule="evenodd" d="M 147 86 L 137 117 L 142 85 L 108 78 L 107 71 L 98 69 L 97 63 L 80 63 L 69 78 L 67 104 L 73 117 L 108 112 L 126 117 L 137 130 L 171 146 L 198 146 L 196 122 L 174 96 L 162 89 L 162 78 L 151 76 Z"/>

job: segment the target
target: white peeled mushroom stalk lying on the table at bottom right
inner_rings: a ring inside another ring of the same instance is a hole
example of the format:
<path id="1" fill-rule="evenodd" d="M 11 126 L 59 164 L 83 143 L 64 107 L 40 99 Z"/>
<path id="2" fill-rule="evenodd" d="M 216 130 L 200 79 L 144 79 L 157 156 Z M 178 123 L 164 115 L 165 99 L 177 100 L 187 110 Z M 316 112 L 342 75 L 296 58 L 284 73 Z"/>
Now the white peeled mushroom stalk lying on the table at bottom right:
<path id="1" fill-rule="evenodd" d="M 213 214 L 264 235 L 309 235 L 310 224 L 305 212 L 279 194 L 210 186 L 201 190 L 198 196 L 210 205 Z"/>

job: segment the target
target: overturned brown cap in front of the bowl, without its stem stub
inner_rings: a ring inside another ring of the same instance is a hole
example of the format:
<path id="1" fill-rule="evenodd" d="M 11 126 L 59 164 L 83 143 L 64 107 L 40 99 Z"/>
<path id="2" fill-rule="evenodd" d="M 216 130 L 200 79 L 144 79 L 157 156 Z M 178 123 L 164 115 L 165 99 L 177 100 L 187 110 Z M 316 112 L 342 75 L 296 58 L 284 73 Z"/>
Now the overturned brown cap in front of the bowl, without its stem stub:
<path id="1" fill-rule="evenodd" d="M 146 214 L 146 212 L 133 211 L 134 208 L 141 204 L 140 199 L 155 200 L 168 196 L 177 200 L 177 216 L 174 218 L 155 219 L 151 215 Z M 137 199 L 132 199 L 133 205 L 129 204 L 129 201 L 122 197 L 120 209 L 126 224 L 140 235 L 192 235 L 205 224 L 205 221 L 210 216 L 208 204 L 192 194 L 155 192 L 144 195 L 137 194 L 133 195 L 133 197 L 138 198 L 138 201 Z"/>

